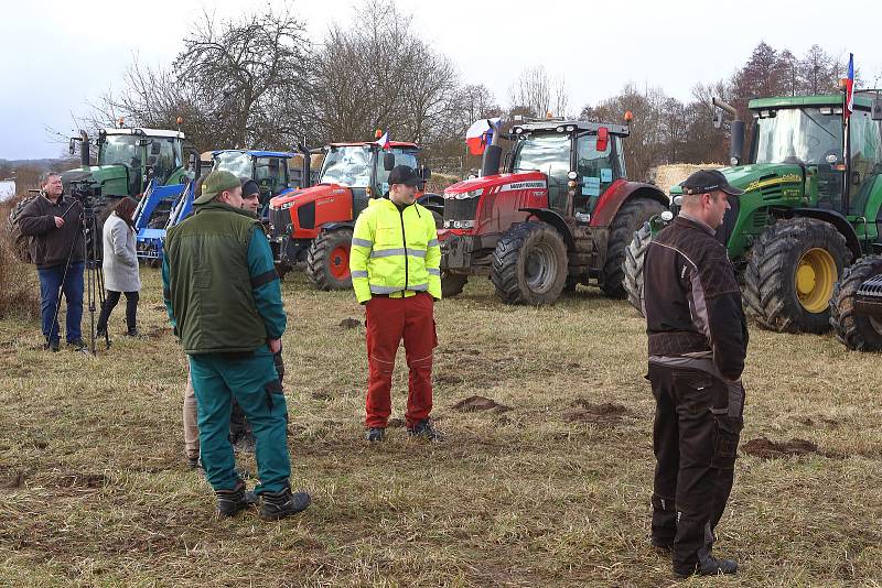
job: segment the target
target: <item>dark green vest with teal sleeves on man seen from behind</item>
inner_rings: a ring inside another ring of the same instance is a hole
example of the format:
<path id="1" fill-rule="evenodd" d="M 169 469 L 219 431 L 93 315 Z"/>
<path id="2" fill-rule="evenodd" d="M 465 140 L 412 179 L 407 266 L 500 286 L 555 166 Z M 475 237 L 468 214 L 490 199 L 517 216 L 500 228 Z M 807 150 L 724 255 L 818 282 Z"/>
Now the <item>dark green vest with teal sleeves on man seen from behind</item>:
<path id="1" fill-rule="evenodd" d="M 189 355 L 254 351 L 284 333 L 272 252 L 246 210 L 209 202 L 169 229 L 162 282 Z"/>

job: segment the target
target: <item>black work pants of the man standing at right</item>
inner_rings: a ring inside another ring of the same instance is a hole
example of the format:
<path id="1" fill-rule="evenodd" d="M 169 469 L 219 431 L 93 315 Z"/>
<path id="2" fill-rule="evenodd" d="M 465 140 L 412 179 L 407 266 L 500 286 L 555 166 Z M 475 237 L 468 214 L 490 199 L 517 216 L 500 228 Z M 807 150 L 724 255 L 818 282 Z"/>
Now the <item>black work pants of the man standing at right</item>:
<path id="1" fill-rule="evenodd" d="M 701 370 L 649 363 L 656 400 L 653 543 L 673 547 L 674 570 L 710 555 L 743 426 L 744 388 Z"/>

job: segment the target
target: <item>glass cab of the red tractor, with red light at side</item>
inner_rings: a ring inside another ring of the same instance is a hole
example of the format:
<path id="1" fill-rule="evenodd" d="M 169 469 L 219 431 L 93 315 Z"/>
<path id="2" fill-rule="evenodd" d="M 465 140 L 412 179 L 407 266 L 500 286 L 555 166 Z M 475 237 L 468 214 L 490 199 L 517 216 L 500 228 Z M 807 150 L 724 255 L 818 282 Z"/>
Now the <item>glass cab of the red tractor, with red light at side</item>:
<path id="1" fill-rule="evenodd" d="M 509 172 L 540 172 L 548 208 L 588 221 L 600 195 L 625 177 L 622 138 L 628 128 L 585 121 L 541 121 L 515 126 Z M 577 189 L 574 189 L 577 188 Z"/>

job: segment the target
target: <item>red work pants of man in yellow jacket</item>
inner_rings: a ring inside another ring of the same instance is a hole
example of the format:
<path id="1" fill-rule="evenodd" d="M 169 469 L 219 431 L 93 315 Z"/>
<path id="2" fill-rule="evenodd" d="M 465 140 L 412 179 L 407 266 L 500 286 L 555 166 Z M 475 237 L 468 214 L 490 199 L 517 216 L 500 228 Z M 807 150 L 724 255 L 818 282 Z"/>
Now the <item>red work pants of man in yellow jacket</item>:
<path id="1" fill-rule="evenodd" d="M 405 339 L 408 379 L 408 428 L 429 417 L 432 410 L 432 349 L 438 345 L 429 294 L 405 298 L 375 296 L 365 309 L 367 325 L 367 418 L 365 425 L 385 427 L 391 414 L 392 369 L 398 344 Z"/>

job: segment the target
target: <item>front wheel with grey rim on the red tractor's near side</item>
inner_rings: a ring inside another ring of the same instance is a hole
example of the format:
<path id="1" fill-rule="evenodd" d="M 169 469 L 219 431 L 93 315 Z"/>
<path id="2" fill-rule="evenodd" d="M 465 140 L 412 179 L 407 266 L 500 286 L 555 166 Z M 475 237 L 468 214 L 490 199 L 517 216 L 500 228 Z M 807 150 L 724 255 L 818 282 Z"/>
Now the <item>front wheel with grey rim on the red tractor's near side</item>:
<path id="1" fill-rule="evenodd" d="M 551 225 L 520 222 L 502 236 L 491 273 L 506 304 L 552 304 L 567 283 L 567 244 Z"/>

